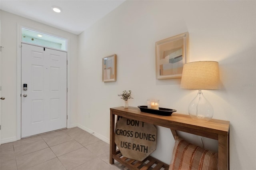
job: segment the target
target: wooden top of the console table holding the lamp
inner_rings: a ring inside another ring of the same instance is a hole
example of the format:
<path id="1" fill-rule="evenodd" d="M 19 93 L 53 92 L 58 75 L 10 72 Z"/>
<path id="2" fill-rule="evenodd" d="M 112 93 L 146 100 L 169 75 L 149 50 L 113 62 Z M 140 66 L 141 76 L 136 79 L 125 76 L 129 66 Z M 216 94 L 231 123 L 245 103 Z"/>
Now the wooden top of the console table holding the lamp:
<path id="1" fill-rule="evenodd" d="M 144 121 L 163 127 L 177 125 L 184 128 L 191 128 L 222 135 L 228 135 L 230 126 L 230 121 L 223 121 L 218 119 L 202 121 L 198 119 L 192 119 L 189 115 L 179 113 L 172 113 L 170 116 L 154 115 L 151 113 L 141 112 L 138 107 L 129 106 L 128 109 L 124 109 L 124 107 L 114 107 L 110 108 L 110 111 L 118 112 L 118 114 L 114 113 L 115 115 Z"/>

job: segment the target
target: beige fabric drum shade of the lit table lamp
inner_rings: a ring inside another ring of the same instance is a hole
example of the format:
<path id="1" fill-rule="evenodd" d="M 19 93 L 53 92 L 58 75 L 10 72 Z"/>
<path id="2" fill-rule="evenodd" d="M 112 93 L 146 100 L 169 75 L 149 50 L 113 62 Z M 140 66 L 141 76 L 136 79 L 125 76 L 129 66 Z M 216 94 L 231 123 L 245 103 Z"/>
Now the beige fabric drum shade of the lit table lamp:
<path id="1" fill-rule="evenodd" d="M 220 89 L 219 63 L 216 61 L 196 61 L 183 66 L 180 88 Z"/>

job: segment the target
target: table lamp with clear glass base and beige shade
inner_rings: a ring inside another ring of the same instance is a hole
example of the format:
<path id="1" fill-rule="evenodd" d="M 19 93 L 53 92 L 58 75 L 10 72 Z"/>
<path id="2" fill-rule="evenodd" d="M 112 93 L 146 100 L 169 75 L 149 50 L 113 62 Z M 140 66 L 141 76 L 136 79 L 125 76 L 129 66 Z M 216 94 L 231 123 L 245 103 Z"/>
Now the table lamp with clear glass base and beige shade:
<path id="1" fill-rule="evenodd" d="M 198 94 L 190 102 L 190 117 L 209 121 L 213 107 L 202 93 L 202 89 L 219 89 L 219 63 L 216 61 L 196 61 L 183 65 L 180 88 L 198 89 Z"/>

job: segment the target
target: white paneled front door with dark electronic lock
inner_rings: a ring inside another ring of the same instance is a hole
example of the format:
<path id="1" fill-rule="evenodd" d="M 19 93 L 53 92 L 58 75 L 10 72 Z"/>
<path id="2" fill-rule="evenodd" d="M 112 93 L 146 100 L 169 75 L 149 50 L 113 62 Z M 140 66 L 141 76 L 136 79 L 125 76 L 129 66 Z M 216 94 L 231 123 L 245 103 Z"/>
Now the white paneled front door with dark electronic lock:
<path id="1" fill-rule="evenodd" d="M 67 53 L 25 43 L 21 51 L 21 137 L 66 128 Z"/>

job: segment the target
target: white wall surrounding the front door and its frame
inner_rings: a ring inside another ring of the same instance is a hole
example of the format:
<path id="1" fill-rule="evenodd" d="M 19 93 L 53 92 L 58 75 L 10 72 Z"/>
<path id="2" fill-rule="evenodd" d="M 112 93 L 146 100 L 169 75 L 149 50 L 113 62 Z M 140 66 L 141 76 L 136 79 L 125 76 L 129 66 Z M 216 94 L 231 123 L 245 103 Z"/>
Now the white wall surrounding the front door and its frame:
<path id="1" fill-rule="evenodd" d="M 70 56 L 70 126 L 77 123 L 77 58 L 78 36 L 20 16 L 0 11 L 2 30 L 2 96 L 1 101 L 1 143 L 16 140 L 17 136 L 17 103 L 16 103 L 16 57 L 17 57 L 17 24 L 32 27 L 68 38 Z"/>

